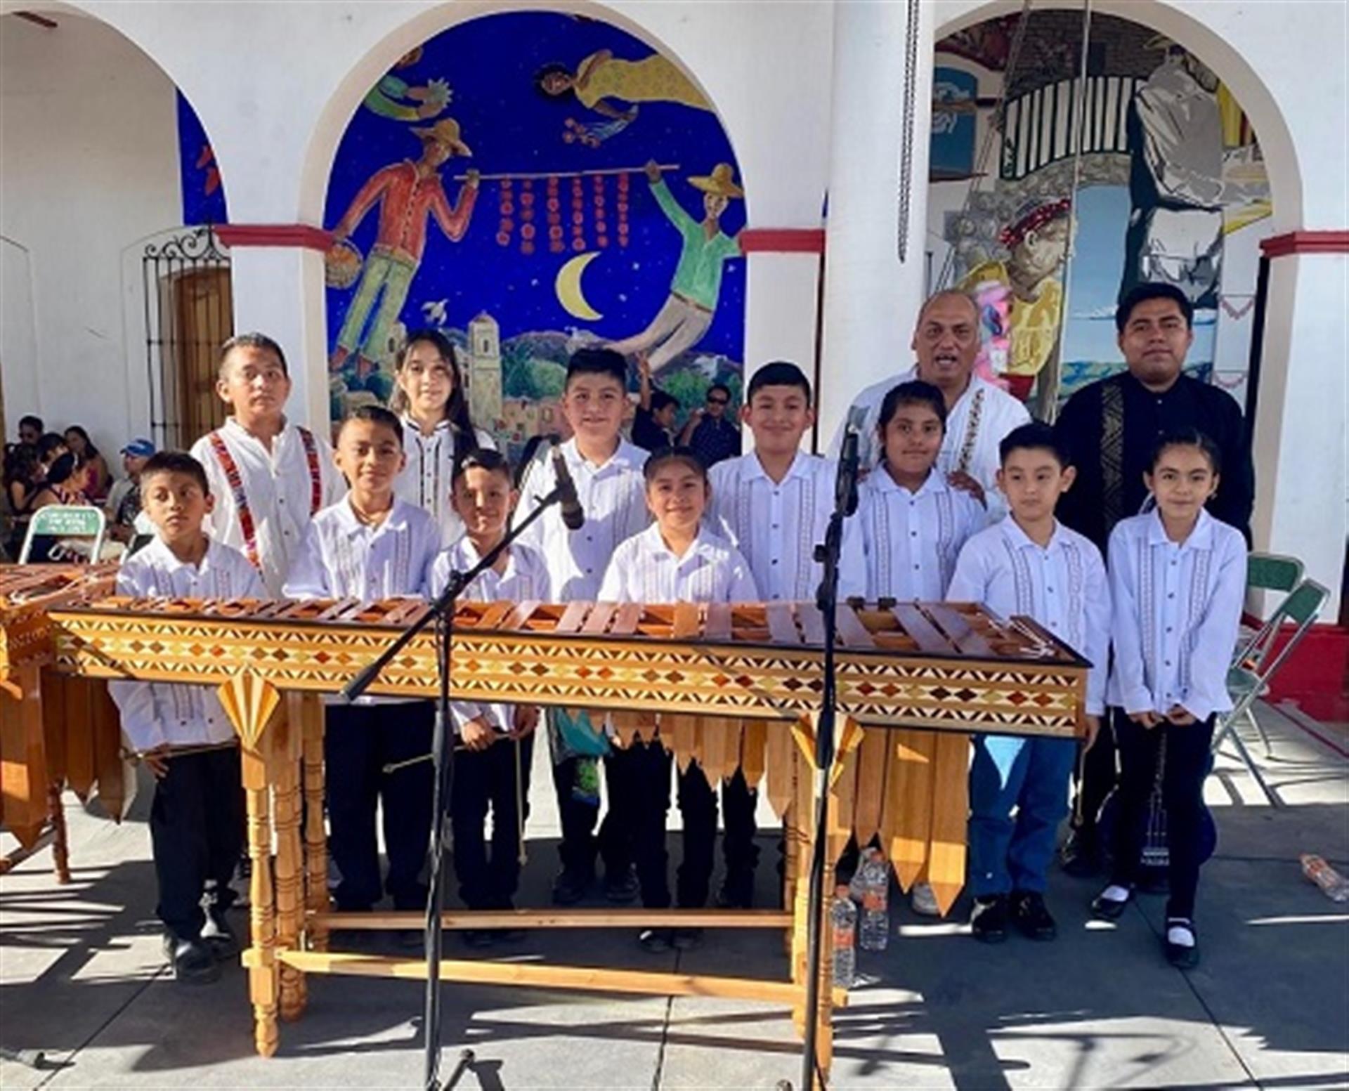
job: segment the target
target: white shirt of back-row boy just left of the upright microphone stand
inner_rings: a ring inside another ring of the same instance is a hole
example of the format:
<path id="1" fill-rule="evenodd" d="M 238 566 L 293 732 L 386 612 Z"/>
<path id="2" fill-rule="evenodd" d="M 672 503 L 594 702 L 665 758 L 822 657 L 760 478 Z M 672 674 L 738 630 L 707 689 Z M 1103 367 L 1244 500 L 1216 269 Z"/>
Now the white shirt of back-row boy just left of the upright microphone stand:
<path id="1" fill-rule="evenodd" d="M 815 546 L 834 514 L 838 464 L 799 452 L 786 476 L 774 481 L 754 452 L 710 471 L 710 525 L 749 561 L 765 599 L 813 599 L 824 574 Z M 862 538 L 857 519 L 843 523 L 839 597 L 862 595 Z"/>

